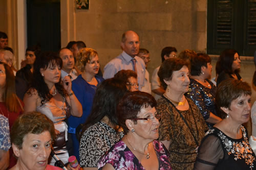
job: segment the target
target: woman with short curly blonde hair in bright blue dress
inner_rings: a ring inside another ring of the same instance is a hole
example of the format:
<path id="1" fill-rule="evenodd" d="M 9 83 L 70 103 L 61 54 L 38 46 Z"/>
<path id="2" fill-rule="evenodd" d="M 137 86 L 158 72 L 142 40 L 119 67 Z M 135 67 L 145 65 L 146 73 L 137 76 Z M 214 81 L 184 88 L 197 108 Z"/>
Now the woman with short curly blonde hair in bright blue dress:
<path id="1" fill-rule="evenodd" d="M 79 161 L 79 141 L 75 134 L 76 128 L 86 122 L 91 112 L 95 90 L 104 79 L 96 75 L 99 71 L 99 58 L 98 53 L 92 48 L 82 48 L 80 50 L 76 65 L 82 71 L 82 74 L 72 81 L 72 90 L 82 105 L 82 116 L 75 117 L 71 115 L 68 118 L 68 132 L 72 136 L 74 155 Z"/>

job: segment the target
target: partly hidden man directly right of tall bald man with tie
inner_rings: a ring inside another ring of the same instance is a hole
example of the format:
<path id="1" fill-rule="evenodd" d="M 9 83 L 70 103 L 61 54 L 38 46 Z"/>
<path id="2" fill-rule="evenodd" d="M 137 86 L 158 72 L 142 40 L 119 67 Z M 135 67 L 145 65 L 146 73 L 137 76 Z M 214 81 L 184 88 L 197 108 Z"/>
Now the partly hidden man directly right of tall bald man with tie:
<path id="1" fill-rule="evenodd" d="M 140 48 L 138 56 L 144 61 L 145 68 L 147 68 L 147 64 L 150 62 L 150 52 L 145 48 Z M 147 69 L 145 69 L 145 82 L 144 86 L 141 88 L 141 91 L 147 92 L 151 94 L 151 83 L 150 83 L 150 74 Z"/>

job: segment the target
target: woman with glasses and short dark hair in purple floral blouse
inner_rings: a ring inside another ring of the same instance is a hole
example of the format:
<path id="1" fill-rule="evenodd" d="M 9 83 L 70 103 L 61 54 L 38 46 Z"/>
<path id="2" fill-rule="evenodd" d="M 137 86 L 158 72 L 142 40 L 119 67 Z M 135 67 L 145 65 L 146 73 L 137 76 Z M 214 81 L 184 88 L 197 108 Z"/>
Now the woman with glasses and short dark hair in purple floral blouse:
<path id="1" fill-rule="evenodd" d="M 117 106 L 124 137 L 99 161 L 99 169 L 172 169 L 168 151 L 159 137 L 159 115 L 151 94 L 125 94 Z"/>

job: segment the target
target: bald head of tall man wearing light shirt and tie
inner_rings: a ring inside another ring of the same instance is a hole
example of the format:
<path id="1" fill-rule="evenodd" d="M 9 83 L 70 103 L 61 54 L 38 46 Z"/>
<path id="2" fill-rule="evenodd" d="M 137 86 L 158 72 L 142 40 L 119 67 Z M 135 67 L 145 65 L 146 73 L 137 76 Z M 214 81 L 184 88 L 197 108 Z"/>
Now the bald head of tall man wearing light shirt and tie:
<path id="1" fill-rule="evenodd" d="M 121 47 L 126 54 L 134 58 L 139 53 L 139 35 L 134 31 L 126 31 L 122 35 Z"/>

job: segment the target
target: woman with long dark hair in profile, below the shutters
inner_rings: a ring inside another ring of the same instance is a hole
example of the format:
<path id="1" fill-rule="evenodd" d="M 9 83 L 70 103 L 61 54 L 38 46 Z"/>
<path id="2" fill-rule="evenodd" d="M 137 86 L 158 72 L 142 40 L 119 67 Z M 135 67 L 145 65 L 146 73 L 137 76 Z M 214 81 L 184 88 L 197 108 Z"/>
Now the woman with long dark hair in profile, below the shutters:
<path id="1" fill-rule="evenodd" d="M 224 50 L 216 64 L 216 71 L 218 75 L 217 86 L 226 79 L 232 78 L 242 80 L 239 75 L 241 68 L 241 60 L 238 52 L 233 49 Z M 219 72 L 220 71 L 220 72 Z"/>

